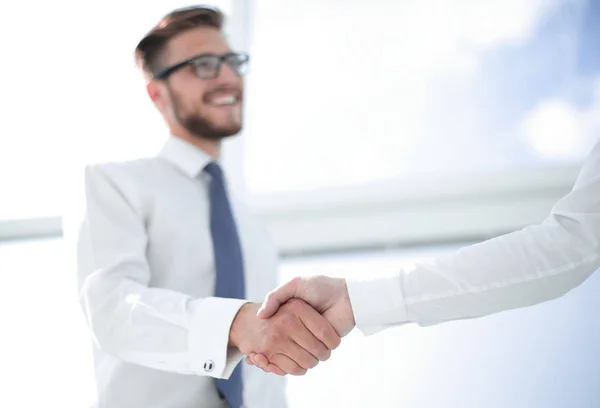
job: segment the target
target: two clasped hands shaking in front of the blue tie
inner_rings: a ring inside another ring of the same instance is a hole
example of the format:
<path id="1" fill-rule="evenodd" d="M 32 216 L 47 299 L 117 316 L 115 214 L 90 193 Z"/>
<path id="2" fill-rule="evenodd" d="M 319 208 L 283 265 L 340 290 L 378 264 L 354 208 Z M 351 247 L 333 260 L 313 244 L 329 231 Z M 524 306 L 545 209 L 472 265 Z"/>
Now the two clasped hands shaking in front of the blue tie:
<path id="1" fill-rule="evenodd" d="M 270 292 L 262 306 L 242 306 L 229 344 L 266 372 L 304 375 L 329 359 L 354 326 L 344 279 L 295 278 Z"/>

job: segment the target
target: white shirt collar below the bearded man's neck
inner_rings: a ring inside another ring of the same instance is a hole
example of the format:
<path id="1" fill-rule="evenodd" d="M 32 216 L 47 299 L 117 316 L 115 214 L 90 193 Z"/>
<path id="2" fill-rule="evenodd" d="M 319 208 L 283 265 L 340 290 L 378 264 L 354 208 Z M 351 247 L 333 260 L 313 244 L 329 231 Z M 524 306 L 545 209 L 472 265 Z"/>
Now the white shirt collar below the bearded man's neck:
<path id="1" fill-rule="evenodd" d="M 191 178 L 195 178 L 213 158 L 200 148 L 176 136 L 169 136 L 160 153 Z"/>

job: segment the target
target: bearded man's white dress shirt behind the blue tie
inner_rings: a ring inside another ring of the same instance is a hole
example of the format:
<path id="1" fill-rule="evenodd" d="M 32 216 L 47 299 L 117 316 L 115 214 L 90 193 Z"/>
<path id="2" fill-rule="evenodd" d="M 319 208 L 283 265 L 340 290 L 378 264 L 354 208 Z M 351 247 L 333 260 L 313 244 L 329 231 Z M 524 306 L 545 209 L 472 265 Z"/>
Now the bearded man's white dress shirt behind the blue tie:
<path id="1" fill-rule="evenodd" d="M 78 239 L 80 301 L 94 337 L 98 403 L 108 408 L 221 408 L 214 378 L 242 355 L 228 350 L 244 303 L 214 297 L 209 225 L 211 158 L 170 137 L 157 157 L 86 167 Z M 277 256 L 238 201 L 248 299 L 276 284 Z M 284 383 L 243 365 L 247 408 L 286 406 Z"/>

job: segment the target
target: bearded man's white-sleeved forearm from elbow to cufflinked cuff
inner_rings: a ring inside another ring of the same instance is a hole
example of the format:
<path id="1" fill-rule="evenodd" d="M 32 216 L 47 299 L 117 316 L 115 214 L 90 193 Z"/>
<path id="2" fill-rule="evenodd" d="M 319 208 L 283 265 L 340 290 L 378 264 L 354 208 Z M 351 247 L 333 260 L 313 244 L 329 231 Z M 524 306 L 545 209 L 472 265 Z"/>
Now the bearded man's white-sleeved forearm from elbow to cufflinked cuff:
<path id="1" fill-rule="evenodd" d="M 193 299 L 100 274 L 86 280 L 81 302 L 98 346 L 123 361 L 226 378 L 242 358 L 228 349 L 229 327 L 242 300 Z"/>

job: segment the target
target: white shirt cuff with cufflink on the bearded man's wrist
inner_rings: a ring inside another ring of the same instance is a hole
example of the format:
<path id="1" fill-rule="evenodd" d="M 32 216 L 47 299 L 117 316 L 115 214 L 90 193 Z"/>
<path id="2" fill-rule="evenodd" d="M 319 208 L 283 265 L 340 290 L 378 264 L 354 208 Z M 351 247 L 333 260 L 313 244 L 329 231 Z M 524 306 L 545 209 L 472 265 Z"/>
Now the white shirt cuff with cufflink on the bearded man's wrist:
<path id="1" fill-rule="evenodd" d="M 197 300 L 189 329 L 191 371 L 227 379 L 244 357 L 228 347 L 233 319 L 247 300 L 209 297 Z"/>

